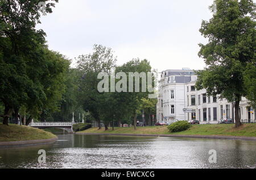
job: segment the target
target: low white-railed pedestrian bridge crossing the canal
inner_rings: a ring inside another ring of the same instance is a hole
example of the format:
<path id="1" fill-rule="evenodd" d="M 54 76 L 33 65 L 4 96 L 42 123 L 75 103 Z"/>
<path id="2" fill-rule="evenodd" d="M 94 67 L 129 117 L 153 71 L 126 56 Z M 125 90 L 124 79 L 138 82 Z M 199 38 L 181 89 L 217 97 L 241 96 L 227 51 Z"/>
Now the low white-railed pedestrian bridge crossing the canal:
<path id="1" fill-rule="evenodd" d="M 72 133 L 73 124 L 76 124 L 76 123 L 74 122 L 31 122 L 30 124 L 28 124 L 28 126 L 34 127 L 34 128 L 40 128 L 40 129 L 54 127 L 54 128 L 63 129 L 65 131 L 68 131 L 69 133 Z"/>

